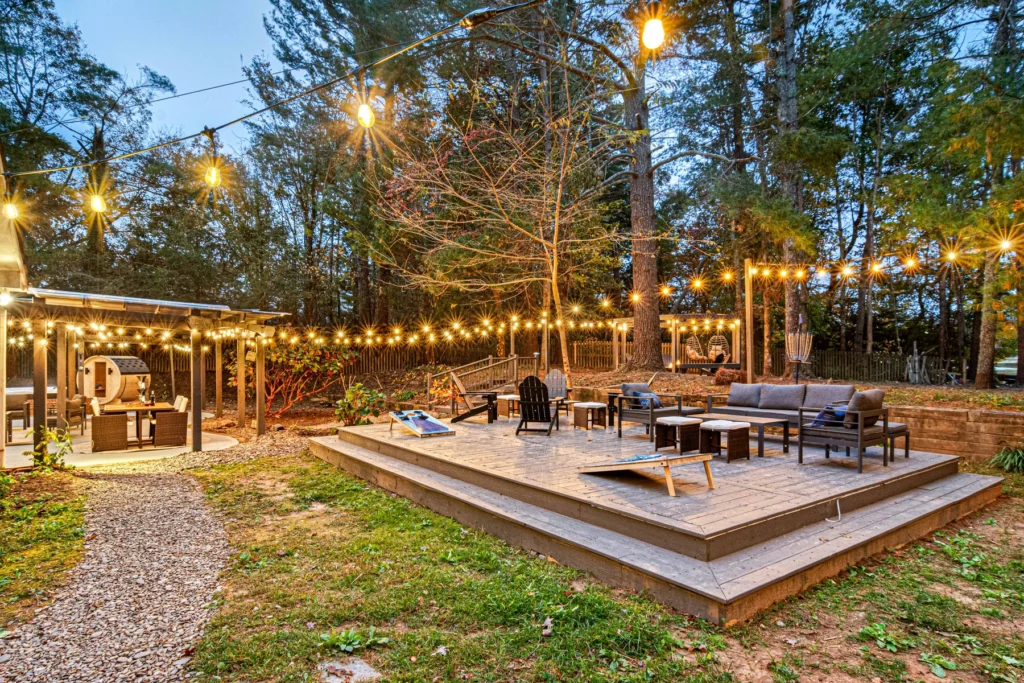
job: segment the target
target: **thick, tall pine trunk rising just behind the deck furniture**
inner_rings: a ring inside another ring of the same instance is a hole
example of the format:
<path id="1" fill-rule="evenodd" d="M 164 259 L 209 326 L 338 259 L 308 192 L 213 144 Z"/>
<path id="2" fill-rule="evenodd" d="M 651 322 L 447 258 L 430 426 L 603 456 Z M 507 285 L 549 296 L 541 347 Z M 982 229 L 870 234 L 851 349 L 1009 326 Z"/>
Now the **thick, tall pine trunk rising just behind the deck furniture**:
<path id="1" fill-rule="evenodd" d="M 636 131 L 630 145 L 630 224 L 633 231 L 633 355 L 627 370 L 664 370 L 658 316 L 657 243 L 654 240 L 654 177 L 645 92 L 645 68 L 637 68 L 637 87 L 623 93 L 626 125 Z M 642 132 L 641 132 L 642 131 Z"/>

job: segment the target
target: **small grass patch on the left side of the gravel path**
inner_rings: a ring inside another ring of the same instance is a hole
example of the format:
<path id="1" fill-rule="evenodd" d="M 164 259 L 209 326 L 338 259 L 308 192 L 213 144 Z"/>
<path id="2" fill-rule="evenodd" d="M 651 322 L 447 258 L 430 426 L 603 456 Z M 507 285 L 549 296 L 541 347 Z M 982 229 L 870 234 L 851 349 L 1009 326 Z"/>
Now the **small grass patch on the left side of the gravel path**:
<path id="1" fill-rule="evenodd" d="M 71 473 L 12 478 L 0 496 L 0 632 L 47 601 L 84 543 L 85 500 Z"/>

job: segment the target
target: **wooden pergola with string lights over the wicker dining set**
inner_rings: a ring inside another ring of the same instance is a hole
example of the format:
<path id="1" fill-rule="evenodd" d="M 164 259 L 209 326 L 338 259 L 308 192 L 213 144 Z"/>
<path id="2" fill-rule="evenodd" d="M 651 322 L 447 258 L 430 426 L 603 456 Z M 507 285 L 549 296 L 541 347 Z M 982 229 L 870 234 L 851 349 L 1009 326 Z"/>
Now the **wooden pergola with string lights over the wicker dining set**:
<path id="1" fill-rule="evenodd" d="M 223 344 L 233 341 L 237 344 L 237 374 L 240 380 L 239 424 L 245 424 L 245 361 L 249 359 L 256 366 L 256 431 L 262 434 L 266 430 L 265 344 L 273 338 L 273 328 L 267 327 L 266 323 L 287 313 L 106 294 L 18 289 L 22 291 L 7 293 L 11 300 L 0 312 L 0 344 L 6 349 L 8 314 L 23 321 L 27 331 L 31 332 L 32 409 L 36 416 L 34 445 L 39 444 L 41 427 L 46 424 L 47 354 L 51 340 L 56 354 L 58 418 L 66 414 L 67 400 L 75 394 L 82 358 L 80 353 L 86 352 L 90 346 L 124 348 L 134 344 L 152 344 L 173 348 L 176 344 L 185 344 L 191 361 L 193 451 L 203 449 L 204 338 L 206 343 L 214 343 L 217 417 L 223 414 Z M 3 366 L 0 367 L 0 404 L 6 405 L 6 353 L 0 353 L 0 357 L 4 358 L 4 362 L 0 364 Z M 6 442 L 6 434 L 0 442 Z"/>

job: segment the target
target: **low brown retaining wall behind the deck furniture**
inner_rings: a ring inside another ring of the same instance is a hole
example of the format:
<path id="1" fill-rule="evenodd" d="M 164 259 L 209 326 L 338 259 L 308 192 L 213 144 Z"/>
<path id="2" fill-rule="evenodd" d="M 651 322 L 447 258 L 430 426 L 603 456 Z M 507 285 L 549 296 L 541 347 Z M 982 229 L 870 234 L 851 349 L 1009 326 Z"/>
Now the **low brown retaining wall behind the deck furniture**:
<path id="1" fill-rule="evenodd" d="M 607 396 L 603 389 L 579 387 L 572 390 L 572 397 L 578 400 L 606 401 Z M 687 402 L 698 404 L 695 400 Z M 988 460 L 1004 445 L 1024 445 L 1024 413 L 921 405 L 889 408 L 890 420 L 910 428 L 910 447 L 914 451 Z M 896 447 L 902 446 L 901 439 Z"/>

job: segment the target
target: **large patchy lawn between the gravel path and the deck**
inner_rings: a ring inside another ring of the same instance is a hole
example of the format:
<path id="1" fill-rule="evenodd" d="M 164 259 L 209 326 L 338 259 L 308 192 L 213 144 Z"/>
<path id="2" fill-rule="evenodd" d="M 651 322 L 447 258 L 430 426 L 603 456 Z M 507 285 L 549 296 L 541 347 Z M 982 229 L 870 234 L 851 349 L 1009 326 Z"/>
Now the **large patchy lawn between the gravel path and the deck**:
<path id="1" fill-rule="evenodd" d="M 1024 673 L 1016 497 L 722 631 L 307 454 L 196 475 L 236 548 L 193 659 L 204 681 L 306 681 L 318 660 L 349 649 L 391 681 L 1017 681 Z M 1013 495 L 1024 492 L 1024 479 L 1011 481 Z"/>

